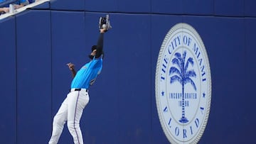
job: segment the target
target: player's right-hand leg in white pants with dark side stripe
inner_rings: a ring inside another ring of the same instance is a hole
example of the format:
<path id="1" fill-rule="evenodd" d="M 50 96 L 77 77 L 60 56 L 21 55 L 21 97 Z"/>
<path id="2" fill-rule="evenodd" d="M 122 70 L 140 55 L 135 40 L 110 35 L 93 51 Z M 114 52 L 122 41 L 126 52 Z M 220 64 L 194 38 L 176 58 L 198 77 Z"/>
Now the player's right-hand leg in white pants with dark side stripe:
<path id="1" fill-rule="evenodd" d="M 82 111 L 89 101 L 87 92 L 72 92 L 68 96 L 68 130 L 73 136 L 74 143 L 82 144 L 82 132 L 80 130 L 80 118 Z"/>

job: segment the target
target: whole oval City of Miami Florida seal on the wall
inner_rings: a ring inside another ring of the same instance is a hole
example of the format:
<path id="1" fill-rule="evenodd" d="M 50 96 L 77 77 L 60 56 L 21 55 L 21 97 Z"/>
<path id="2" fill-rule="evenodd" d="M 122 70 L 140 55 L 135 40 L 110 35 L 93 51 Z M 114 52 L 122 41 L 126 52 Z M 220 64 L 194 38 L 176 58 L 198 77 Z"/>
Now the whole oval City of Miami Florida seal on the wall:
<path id="1" fill-rule="evenodd" d="M 210 113 L 210 64 L 203 40 L 187 23 L 166 34 L 156 64 L 156 106 L 170 143 L 198 143 Z"/>

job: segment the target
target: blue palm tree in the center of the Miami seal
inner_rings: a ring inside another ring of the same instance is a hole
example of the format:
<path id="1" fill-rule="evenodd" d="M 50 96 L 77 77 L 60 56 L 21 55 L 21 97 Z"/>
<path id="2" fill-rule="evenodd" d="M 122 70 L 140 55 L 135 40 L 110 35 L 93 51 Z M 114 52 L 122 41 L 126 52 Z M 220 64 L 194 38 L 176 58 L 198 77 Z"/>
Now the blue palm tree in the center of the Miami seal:
<path id="1" fill-rule="evenodd" d="M 177 65 L 178 68 L 176 67 L 171 67 L 169 71 L 169 75 L 173 75 L 171 79 L 171 84 L 178 81 L 182 85 L 182 102 L 181 102 L 181 107 L 182 107 L 182 117 L 179 120 L 181 123 L 188 123 L 188 119 L 185 117 L 185 99 L 184 99 L 184 86 L 187 83 L 191 83 L 193 89 L 196 90 L 196 84 L 193 82 L 191 77 L 196 77 L 196 72 L 193 70 L 188 70 L 188 65 L 191 64 L 193 66 L 193 58 L 189 57 L 188 60 L 186 61 L 186 51 L 183 52 L 183 55 L 181 57 L 181 53 L 176 52 L 175 58 L 171 60 L 172 64 Z"/>

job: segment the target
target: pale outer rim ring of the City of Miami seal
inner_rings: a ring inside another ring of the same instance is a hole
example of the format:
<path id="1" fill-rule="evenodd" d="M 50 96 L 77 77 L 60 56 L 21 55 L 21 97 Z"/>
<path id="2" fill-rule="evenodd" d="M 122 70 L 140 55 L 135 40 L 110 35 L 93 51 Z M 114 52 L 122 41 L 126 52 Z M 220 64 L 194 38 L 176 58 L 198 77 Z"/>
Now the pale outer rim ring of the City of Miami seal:
<path id="1" fill-rule="evenodd" d="M 161 64 L 161 60 L 162 60 L 162 57 L 164 56 L 163 55 L 163 52 L 164 52 L 164 49 L 165 49 L 165 46 L 166 46 L 166 43 L 169 41 L 169 38 L 171 38 L 171 35 L 178 29 L 181 29 L 181 28 L 186 28 L 188 31 L 191 31 L 191 33 L 193 33 L 197 40 L 198 40 L 198 43 L 202 46 L 201 50 L 203 52 L 203 55 L 206 57 L 205 61 L 206 61 L 206 65 L 208 67 L 206 67 L 207 71 L 208 71 L 208 101 L 206 102 L 207 103 L 207 108 L 206 108 L 206 117 L 204 118 L 204 121 L 203 121 L 203 125 L 201 126 L 201 129 L 199 130 L 198 134 L 195 136 L 196 138 L 194 138 L 194 140 L 191 142 L 191 143 L 198 143 L 198 141 L 201 139 L 201 136 L 203 135 L 203 132 L 204 130 L 206 129 L 206 125 L 207 125 L 207 122 L 208 122 L 208 117 L 209 117 L 209 113 L 210 113 L 210 101 L 211 101 L 211 91 L 212 91 L 212 84 L 211 84 L 211 73 L 210 73 L 210 64 L 209 64 L 209 60 L 208 60 L 208 54 L 206 52 L 206 48 L 205 48 L 205 45 L 203 44 L 203 40 L 201 39 L 201 36 L 198 34 L 198 32 L 192 27 L 190 26 L 188 23 L 177 23 L 175 26 L 173 26 L 169 32 L 166 34 L 162 44 L 161 44 L 161 48 L 159 50 L 159 57 L 157 59 L 157 63 L 156 63 L 156 74 L 155 74 L 155 97 L 156 97 L 156 108 L 157 108 L 157 112 L 158 112 L 158 115 L 159 115 L 159 121 L 161 123 L 161 128 L 164 130 L 164 134 L 166 135 L 166 138 L 168 138 L 169 142 L 170 143 L 176 143 L 176 141 L 171 138 L 171 135 L 169 135 L 168 133 L 168 130 L 166 130 L 165 128 L 165 123 L 164 123 L 164 120 L 161 118 L 161 109 L 160 109 L 160 106 L 159 106 L 159 99 L 158 99 L 158 96 L 159 96 L 159 85 L 158 85 L 158 82 L 159 82 L 159 67 L 160 67 L 160 64 Z"/>

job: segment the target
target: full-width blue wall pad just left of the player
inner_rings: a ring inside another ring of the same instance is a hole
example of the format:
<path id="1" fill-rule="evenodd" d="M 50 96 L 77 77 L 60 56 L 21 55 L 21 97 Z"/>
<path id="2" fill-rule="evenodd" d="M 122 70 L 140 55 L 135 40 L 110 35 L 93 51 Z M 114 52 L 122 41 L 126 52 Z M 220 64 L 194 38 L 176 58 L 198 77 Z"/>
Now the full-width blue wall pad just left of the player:
<path id="1" fill-rule="evenodd" d="M 50 12 L 26 11 L 16 19 L 17 140 L 47 143 L 51 132 Z"/>

